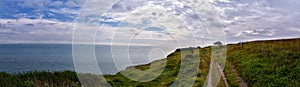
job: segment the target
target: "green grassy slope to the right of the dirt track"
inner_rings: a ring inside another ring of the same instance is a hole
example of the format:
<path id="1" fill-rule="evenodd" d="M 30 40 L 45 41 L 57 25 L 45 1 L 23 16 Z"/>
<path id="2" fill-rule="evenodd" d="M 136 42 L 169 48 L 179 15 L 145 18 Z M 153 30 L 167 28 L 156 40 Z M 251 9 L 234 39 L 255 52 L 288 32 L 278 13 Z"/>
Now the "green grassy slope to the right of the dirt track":
<path id="1" fill-rule="evenodd" d="M 227 60 L 249 86 L 295 87 L 300 86 L 299 47 L 300 39 L 229 45 Z"/>

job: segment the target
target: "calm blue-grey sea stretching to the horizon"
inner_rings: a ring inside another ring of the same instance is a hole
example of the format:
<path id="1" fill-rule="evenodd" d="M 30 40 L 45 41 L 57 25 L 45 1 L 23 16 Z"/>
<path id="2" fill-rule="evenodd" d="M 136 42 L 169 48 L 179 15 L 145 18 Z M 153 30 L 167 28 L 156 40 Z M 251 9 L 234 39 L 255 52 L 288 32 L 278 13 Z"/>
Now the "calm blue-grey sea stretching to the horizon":
<path id="1" fill-rule="evenodd" d="M 116 74 L 132 65 L 147 64 L 163 59 L 175 50 L 172 47 L 159 46 L 94 46 L 97 60 L 95 62 L 102 74 Z M 161 49 L 163 52 L 153 49 Z M 125 57 L 130 58 L 130 62 L 114 63 L 114 60 L 128 61 Z M 65 70 L 75 71 L 71 44 L 0 44 L 0 72 Z"/>

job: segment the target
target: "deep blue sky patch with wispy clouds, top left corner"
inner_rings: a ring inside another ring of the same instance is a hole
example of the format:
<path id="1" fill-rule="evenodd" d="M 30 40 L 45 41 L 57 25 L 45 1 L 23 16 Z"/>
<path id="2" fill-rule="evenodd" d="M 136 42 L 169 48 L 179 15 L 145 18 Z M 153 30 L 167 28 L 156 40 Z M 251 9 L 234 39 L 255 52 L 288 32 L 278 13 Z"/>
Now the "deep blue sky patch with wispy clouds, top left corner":
<path id="1" fill-rule="evenodd" d="M 84 1 L 82 0 L 8 0 L 1 1 L 0 18 L 3 19 L 55 19 L 73 21 Z"/>

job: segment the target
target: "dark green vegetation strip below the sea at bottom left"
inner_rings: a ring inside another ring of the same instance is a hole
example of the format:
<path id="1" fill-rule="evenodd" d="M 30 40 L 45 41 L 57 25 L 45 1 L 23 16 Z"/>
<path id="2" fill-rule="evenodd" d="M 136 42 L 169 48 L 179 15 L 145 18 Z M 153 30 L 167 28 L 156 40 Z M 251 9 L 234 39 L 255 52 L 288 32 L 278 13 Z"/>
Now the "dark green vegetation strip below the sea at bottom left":
<path id="1" fill-rule="evenodd" d="M 0 73 L 0 87 L 76 87 L 80 86 L 76 73 L 63 72 L 27 72 L 22 74 Z"/>

